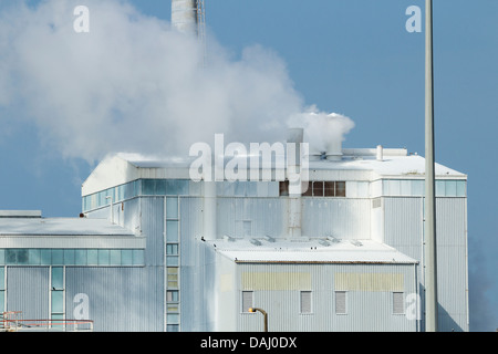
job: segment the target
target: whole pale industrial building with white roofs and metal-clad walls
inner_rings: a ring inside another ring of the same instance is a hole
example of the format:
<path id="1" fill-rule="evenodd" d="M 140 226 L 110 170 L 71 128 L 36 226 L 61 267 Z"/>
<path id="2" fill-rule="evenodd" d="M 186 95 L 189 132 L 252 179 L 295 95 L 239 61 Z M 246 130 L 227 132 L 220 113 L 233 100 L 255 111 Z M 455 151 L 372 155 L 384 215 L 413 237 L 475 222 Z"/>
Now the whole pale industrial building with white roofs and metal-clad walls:
<path id="1" fill-rule="evenodd" d="M 200 4 L 174 0 L 173 24 L 198 31 Z M 117 154 L 84 181 L 79 218 L 1 211 L 3 329 L 21 313 L 18 330 L 262 331 L 256 308 L 269 331 L 425 331 L 423 157 L 301 150 L 298 194 L 276 164 L 257 180 L 194 180 L 191 164 Z M 467 176 L 435 174 L 438 329 L 468 331 Z"/>

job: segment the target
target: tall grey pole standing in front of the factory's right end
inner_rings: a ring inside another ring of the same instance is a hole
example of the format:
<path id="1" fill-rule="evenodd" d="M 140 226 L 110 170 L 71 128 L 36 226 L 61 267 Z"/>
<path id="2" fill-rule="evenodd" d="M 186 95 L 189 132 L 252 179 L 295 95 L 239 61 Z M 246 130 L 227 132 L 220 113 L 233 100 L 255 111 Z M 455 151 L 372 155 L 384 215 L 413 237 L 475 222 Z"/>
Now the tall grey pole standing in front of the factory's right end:
<path id="1" fill-rule="evenodd" d="M 434 173 L 433 1 L 426 0 L 425 48 L 425 326 L 437 332 L 436 197 Z"/>

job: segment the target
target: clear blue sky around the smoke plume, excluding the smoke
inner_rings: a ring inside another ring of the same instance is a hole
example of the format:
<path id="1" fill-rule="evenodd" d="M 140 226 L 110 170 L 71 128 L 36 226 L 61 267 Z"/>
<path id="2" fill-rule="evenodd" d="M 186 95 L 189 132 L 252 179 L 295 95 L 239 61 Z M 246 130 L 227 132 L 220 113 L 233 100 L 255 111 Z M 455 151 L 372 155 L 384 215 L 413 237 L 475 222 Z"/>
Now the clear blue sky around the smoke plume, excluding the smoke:
<path id="1" fill-rule="evenodd" d="M 208 33 L 232 61 L 259 44 L 286 64 L 305 104 L 354 121 L 345 147 L 381 144 L 424 155 L 424 33 L 406 31 L 405 11 L 409 6 L 424 11 L 425 1 L 205 1 Z M 0 11 L 13 2 L 0 0 Z M 169 21 L 169 1 L 129 2 Z M 498 327 L 497 13 L 495 0 L 434 4 L 436 160 L 468 175 L 474 331 Z M 81 183 L 95 162 L 54 148 L 40 124 L 18 119 L 22 112 L 22 101 L 0 104 L 0 209 L 77 216 Z"/>

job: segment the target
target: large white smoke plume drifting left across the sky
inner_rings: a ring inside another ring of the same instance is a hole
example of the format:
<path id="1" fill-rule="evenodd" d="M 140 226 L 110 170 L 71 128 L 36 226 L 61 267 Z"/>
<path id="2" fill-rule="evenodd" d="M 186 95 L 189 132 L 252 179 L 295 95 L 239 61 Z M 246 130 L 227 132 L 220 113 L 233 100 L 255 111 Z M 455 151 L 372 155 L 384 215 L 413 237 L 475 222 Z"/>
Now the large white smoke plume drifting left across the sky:
<path id="1" fill-rule="evenodd" d="M 17 119 L 64 157 L 187 155 L 215 133 L 277 140 L 307 110 L 271 50 L 255 45 L 235 59 L 209 38 L 204 65 L 196 39 L 124 1 L 85 1 L 90 32 L 76 33 L 79 4 L 19 1 L 0 14 L 0 108 L 17 107 Z"/>

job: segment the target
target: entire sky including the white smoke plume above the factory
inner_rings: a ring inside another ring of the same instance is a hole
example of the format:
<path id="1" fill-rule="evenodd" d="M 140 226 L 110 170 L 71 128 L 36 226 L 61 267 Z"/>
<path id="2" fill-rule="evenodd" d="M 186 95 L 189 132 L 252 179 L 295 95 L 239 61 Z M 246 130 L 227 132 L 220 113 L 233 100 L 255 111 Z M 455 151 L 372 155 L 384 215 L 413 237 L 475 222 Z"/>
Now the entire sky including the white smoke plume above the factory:
<path id="1" fill-rule="evenodd" d="M 106 153 L 181 152 L 219 129 L 279 138 L 305 110 L 351 118 L 344 147 L 425 154 L 424 31 L 405 28 L 423 0 L 205 0 L 200 72 L 169 0 L 22 2 L 0 0 L 0 209 L 77 216 Z M 72 31 L 80 4 L 90 33 Z M 434 1 L 436 160 L 468 175 L 474 331 L 498 327 L 496 14 L 495 0 Z"/>

